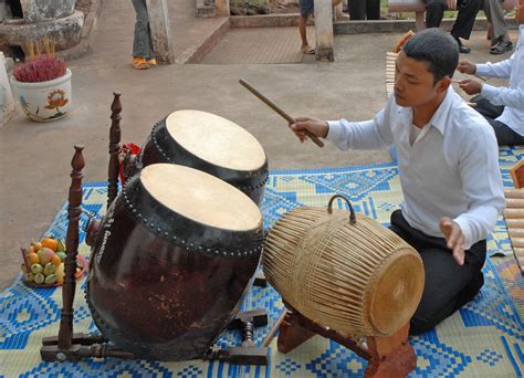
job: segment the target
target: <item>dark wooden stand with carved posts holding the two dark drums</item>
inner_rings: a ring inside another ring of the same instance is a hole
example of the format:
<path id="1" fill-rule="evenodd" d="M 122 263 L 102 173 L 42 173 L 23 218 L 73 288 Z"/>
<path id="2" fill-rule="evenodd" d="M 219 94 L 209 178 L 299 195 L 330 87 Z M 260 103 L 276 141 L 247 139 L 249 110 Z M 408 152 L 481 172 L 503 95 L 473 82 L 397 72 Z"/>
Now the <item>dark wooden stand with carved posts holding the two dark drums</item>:
<path id="1" fill-rule="evenodd" d="M 115 93 L 115 99 L 112 105 L 112 140 L 109 144 L 109 151 L 113 153 L 113 159 L 117 158 L 119 149 L 119 94 Z M 78 221 L 82 213 L 82 169 L 85 166 L 82 154 L 83 147 L 75 146 L 75 154 L 71 161 L 73 168 L 71 178 L 71 187 L 69 192 L 69 208 L 67 208 L 67 235 L 65 240 L 66 258 L 64 284 L 62 287 L 63 307 L 60 318 L 59 336 L 44 337 L 42 339 L 42 347 L 40 355 L 44 361 L 76 361 L 82 358 L 104 358 L 116 357 L 134 359 L 140 358 L 133 353 L 128 353 L 113 346 L 102 335 L 73 334 L 73 303 L 76 291 L 76 255 L 78 253 Z M 114 161 L 113 161 L 114 162 Z M 113 165 L 114 166 L 114 165 Z M 117 175 L 118 170 L 109 169 L 109 197 L 108 204 L 116 198 L 117 191 Z M 91 224 L 91 227 L 94 223 Z M 264 284 L 264 280 L 259 280 L 260 284 Z M 240 347 L 230 349 L 211 348 L 203 356 L 205 359 L 219 359 L 231 364 L 239 365 L 266 365 L 268 364 L 268 348 L 258 347 L 253 342 L 253 327 L 265 326 L 268 324 L 268 314 L 265 309 L 254 309 L 240 313 L 231 322 L 230 329 L 242 329 L 243 343 Z"/>

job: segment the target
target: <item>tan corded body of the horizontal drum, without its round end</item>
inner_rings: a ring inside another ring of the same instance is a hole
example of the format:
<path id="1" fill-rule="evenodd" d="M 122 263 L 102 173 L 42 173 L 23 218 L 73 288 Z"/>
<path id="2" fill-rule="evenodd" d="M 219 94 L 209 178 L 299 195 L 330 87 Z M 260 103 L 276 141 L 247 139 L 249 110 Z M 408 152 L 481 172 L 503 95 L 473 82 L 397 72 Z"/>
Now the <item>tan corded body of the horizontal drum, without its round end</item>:
<path id="1" fill-rule="evenodd" d="M 370 286 L 391 254 L 411 248 L 367 217 L 350 225 L 347 211 L 334 214 L 319 208 L 284 214 L 266 239 L 264 273 L 312 321 L 355 337 L 374 335 L 366 313 Z"/>

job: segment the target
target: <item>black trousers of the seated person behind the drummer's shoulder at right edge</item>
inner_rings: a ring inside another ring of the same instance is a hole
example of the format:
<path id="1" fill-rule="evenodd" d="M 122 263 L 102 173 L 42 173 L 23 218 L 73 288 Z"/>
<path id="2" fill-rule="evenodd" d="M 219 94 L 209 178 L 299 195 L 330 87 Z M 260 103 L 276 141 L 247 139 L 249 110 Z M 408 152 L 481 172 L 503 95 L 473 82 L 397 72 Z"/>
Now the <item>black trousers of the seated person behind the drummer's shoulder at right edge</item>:
<path id="1" fill-rule="evenodd" d="M 481 95 L 474 96 L 471 98 L 471 102 L 476 104 L 476 112 L 482 114 L 495 130 L 499 146 L 524 145 L 524 136 L 514 132 L 506 124 L 495 119 L 504 112 L 504 105 L 493 105 L 488 98 Z"/>

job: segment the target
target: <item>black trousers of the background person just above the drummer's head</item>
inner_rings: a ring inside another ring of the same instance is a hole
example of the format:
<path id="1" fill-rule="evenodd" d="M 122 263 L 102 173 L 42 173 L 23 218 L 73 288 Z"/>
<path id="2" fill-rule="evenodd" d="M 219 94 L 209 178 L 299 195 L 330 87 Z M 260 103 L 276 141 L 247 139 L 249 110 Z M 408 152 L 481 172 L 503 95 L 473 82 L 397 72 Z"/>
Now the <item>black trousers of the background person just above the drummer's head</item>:
<path id="1" fill-rule="evenodd" d="M 440 28 L 440 22 L 448 9 L 446 0 L 422 0 L 426 6 L 426 28 Z M 476 13 L 483 6 L 483 0 L 458 0 L 457 20 L 451 29 L 451 35 L 470 39 Z"/>

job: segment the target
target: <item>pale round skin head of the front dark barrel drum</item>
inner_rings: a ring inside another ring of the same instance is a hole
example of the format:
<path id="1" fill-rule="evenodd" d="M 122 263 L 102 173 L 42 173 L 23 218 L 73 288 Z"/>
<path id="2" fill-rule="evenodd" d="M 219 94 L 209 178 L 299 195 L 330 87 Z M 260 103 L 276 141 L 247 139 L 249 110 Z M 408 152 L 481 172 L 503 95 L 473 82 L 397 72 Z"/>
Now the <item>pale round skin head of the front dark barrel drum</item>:
<path id="1" fill-rule="evenodd" d="M 262 224 L 262 213 L 248 196 L 200 170 L 155 164 L 142 170 L 140 181 L 158 202 L 192 221 L 232 231 Z"/>

